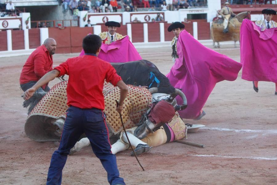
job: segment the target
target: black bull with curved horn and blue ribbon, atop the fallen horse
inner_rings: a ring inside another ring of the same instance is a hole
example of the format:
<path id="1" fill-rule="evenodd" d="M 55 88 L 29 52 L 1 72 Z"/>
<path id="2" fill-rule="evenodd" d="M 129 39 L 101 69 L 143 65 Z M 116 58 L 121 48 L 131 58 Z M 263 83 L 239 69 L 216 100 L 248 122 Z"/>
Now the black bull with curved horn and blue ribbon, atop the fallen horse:
<path id="1" fill-rule="evenodd" d="M 163 75 L 152 62 L 148 60 L 137 60 L 126 63 L 111 63 L 111 65 L 115 68 L 117 74 L 121 76 L 124 83 L 154 88 L 155 93 L 176 93 L 183 99 L 183 105 L 180 109 L 185 109 L 187 107 L 187 99 L 184 93 L 180 89 L 174 88 L 170 84 L 168 78 Z M 151 76 L 151 72 L 155 76 Z M 159 84 L 155 81 L 155 77 L 159 80 Z"/>

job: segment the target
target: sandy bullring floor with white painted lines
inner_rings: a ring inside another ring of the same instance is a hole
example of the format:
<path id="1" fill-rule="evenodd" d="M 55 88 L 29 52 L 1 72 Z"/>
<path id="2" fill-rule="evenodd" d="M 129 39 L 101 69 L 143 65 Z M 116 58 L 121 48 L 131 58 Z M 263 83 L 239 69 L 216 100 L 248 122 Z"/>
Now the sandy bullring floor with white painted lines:
<path id="1" fill-rule="evenodd" d="M 136 45 L 135 45 L 136 46 Z M 208 46 L 211 47 L 211 46 Z M 137 48 L 143 59 L 153 62 L 163 74 L 172 66 L 171 49 Z M 239 48 L 222 45 L 219 53 L 240 61 Z M 79 53 L 55 54 L 54 66 Z M 19 76 L 28 55 L 0 58 L 0 184 L 45 184 L 50 158 L 57 143 L 34 142 L 26 137 L 27 109 L 22 107 Z M 58 83 L 55 79 L 50 87 Z M 166 143 L 138 156 L 131 150 L 116 154 L 118 168 L 126 184 L 276 184 L 277 128 L 274 84 L 260 82 L 259 93 L 252 83 L 238 78 L 218 83 L 198 121 L 197 133 L 187 141 L 205 148 Z M 107 184 L 106 172 L 98 158 L 86 147 L 67 159 L 62 184 Z"/>

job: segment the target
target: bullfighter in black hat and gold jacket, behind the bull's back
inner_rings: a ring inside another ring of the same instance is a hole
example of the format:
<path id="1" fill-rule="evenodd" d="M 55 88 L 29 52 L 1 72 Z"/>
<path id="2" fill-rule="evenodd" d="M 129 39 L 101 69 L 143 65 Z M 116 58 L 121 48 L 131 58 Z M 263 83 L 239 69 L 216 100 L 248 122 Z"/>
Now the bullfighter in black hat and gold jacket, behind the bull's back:
<path id="1" fill-rule="evenodd" d="M 108 27 L 108 31 L 104 31 L 99 34 L 104 44 L 110 44 L 124 37 L 119 33 L 116 33 L 117 27 L 120 27 L 120 24 L 118 22 L 108 21 L 105 23 L 105 26 Z"/>

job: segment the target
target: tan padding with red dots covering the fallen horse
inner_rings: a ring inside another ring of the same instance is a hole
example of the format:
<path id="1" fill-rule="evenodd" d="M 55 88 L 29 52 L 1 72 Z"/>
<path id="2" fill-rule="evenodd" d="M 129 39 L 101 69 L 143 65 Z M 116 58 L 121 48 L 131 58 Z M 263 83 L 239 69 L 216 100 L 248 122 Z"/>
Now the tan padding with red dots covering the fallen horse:
<path id="1" fill-rule="evenodd" d="M 65 118 L 66 110 L 66 86 L 67 81 L 62 81 L 54 85 L 51 90 L 42 98 L 35 106 L 28 118 L 34 115 L 42 115 L 53 118 Z M 128 95 L 125 99 L 123 111 L 121 113 L 124 126 L 126 128 L 134 127 L 139 122 L 143 112 L 145 112 L 151 104 L 151 93 L 147 88 L 141 88 L 128 85 Z M 105 82 L 103 88 L 105 97 L 105 113 L 106 121 L 110 124 L 110 129 L 114 134 L 122 131 L 122 125 L 119 113 L 116 111 L 116 100 L 119 101 L 120 89 Z M 27 118 L 27 119 L 28 119 Z"/>

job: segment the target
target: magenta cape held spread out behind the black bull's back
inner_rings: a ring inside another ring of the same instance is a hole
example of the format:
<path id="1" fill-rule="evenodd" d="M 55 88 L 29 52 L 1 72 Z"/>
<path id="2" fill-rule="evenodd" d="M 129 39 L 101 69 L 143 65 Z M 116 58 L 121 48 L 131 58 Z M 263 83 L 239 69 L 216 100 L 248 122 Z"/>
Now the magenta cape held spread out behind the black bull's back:
<path id="1" fill-rule="evenodd" d="M 84 54 L 85 52 L 82 50 L 80 56 Z M 98 58 L 107 62 L 130 62 L 135 60 L 142 60 L 141 56 L 129 40 L 128 36 L 110 44 L 102 43 Z"/>

